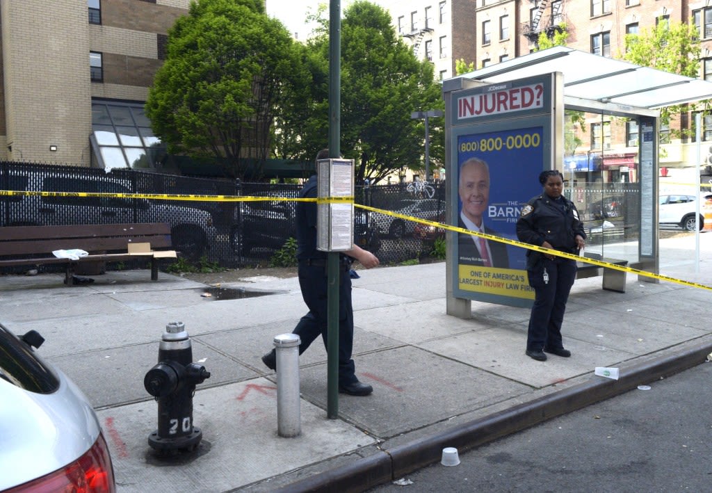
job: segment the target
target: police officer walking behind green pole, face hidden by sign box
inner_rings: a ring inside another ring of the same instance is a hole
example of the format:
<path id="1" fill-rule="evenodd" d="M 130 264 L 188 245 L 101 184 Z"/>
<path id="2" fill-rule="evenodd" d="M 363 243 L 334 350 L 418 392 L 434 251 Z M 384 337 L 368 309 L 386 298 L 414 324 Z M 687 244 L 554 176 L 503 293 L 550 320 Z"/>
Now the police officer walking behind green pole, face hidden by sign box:
<path id="1" fill-rule="evenodd" d="M 328 159 L 329 150 L 320 150 L 316 162 Z M 315 163 L 316 164 L 316 163 Z M 299 197 L 317 197 L 317 176 L 310 177 L 299 193 Z M 317 249 L 317 204 L 315 202 L 297 202 L 296 206 L 297 261 L 299 287 L 302 298 L 309 308 L 293 333 L 300 338 L 299 354 L 306 351 L 318 336 L 322 336 L 327 346 L 328 318 L 328 253 Z M 361 383 L 355 375 L 355 365 L 351 358 L 354 337 L 354 318 L 351 305 L 351 278 L 349 275 L 352 260 L 359 261 L 367 269 L 379 264 L 377 257 L 370 251 L 353 245 L 352 249 L 340 254 L 339 272 L 339 392 L 350 395 L 369 395 L 371 385 Z M 273 349 L 262 357 L 262 362 L 271 370 L 277 367 L 276 353 Z"/>

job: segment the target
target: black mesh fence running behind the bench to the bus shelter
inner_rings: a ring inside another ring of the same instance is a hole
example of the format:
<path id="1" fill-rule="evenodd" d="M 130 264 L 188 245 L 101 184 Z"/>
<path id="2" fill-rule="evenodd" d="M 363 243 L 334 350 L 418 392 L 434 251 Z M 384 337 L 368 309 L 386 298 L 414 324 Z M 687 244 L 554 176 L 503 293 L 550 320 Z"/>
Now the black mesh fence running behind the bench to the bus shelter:
<path id="1" fill-rule="evenodd" d="M 224 267 L 268 264 L 294 237 L 295 202 L 272 200 L 175 200 L 156 197 L 77 197 L 71 192 L 205 194 L 246 197 L 298 195 L 300 185 L 234 183 L 135 170 L 0 162 L 0 190 L 67 192 L 0 197 L 0 226 L 167 222 L 174 248 L 190 261 Z M 444 221 L 444 182 L 356 187 L 356 202 L 378 209 Z M 431 242 L 414 236 L 415 223 L 376 212 L 355 213 L 360 244 L 392 263 L 429 254 Z M 78 245 L 80 248 L 80 245 Z"/>

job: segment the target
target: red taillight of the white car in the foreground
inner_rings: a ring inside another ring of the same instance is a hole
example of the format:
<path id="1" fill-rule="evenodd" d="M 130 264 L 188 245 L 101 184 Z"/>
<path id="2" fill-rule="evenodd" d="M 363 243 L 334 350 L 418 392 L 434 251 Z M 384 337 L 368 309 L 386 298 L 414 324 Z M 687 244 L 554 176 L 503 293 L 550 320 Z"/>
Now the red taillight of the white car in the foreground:
<path id="1" fill-rule="evenodd" d="M 94 445 L 70 465 L 5 493 L 19 492 L 115 493 L 114 471 L 104 437 L 100 434 Z"/>

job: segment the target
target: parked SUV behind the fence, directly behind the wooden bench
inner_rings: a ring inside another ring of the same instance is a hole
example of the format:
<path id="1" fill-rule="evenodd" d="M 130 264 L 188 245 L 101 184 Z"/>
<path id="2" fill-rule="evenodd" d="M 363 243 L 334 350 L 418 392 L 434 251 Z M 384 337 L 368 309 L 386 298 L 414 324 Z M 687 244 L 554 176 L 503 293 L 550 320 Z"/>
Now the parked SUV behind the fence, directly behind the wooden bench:
<path id="1" fill-rule="evenodd" d="M 132 193 L 129 180 L 115 177 L 13 171 L 8 178 L 9 190 Z M 209 212 L 174 201 L 73 197 L 66 194 L 24 195 L 0 200 L 0 212 L 0 224 L 5 226 L 167 222 L 171 225 L 174 249 L 192 261 L 207 255 L 217 237 Z"/>

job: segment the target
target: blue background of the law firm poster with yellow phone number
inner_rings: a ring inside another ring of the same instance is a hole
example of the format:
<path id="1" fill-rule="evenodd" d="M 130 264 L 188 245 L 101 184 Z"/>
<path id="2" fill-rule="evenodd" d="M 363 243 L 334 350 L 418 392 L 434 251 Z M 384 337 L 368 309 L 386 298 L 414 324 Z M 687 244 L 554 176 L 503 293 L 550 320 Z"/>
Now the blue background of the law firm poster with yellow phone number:
<path id="1" fill-rule="evenodd" d="M 538 143 L 536 146 L 533 145 L 535 141 Z M 498 236 L 517 239 L 516 221 L 519 211 L 531 197 L 541 192 L 538 175 L 544 169 L 544 141 L 541 126 L 470 133 L 457 137 L 458 182 L 460 165 L 464 161 L 478 157 L 488 164 L 490 195 L 484 221 Z M 529 147 L 525 147 L 527 142 Z M 458 215 L 461 208 L 462 202 L 458 195 Z M 515 214 L 512 214 L 513 209 Z M 511 245 L 507 249 L 510 268 L 525 269 L 525 250 Z"/>

